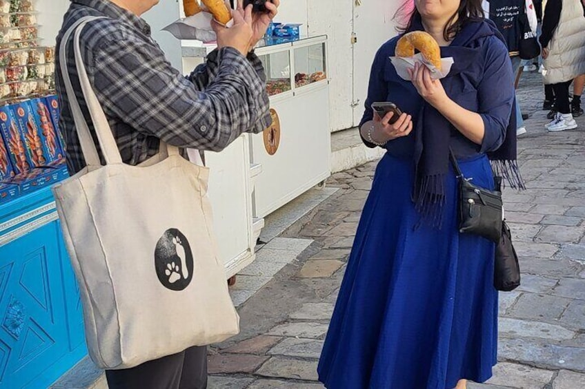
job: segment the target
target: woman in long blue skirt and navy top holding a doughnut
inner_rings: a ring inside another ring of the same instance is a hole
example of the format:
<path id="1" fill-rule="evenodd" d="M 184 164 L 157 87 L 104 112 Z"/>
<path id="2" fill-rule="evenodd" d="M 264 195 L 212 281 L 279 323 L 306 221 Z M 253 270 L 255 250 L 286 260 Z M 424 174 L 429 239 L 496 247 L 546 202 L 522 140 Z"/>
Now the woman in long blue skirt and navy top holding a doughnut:
<path id="1" fill-rule="evenodd" d="M 464 389 L 497 362 L 492 242 L 457 229 L 457 178 L 493 189 L 493 167 L 517 175 L 508 50 L 481 0 L 415 0 L 406 32 L 425 30 L 455 61 L 433 81 L 400 78 L 385 43 L 370 76 L 361 136 L 386 148 L 361 215 L 319 361 L 328 389 Z M 375 102 L 404 114 L 380 118 Z M 490 163 L 491 162 L 491 163 Z"/>

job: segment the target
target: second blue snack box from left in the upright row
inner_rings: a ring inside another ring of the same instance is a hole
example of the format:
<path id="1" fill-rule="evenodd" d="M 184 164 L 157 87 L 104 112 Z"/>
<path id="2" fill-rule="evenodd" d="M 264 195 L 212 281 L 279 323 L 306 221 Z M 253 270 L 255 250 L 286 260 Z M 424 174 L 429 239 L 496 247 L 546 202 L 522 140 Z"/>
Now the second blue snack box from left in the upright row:
<path id="1" fill-rule="evenodd" d="M 17 120 L 9 105 L 0 107 L 0 132 L 8 149 L 8 156 L 12 163 L 14 174 L 26 174 L 30 165 L 26 157 L 26 145 L 19 132 Z"/>

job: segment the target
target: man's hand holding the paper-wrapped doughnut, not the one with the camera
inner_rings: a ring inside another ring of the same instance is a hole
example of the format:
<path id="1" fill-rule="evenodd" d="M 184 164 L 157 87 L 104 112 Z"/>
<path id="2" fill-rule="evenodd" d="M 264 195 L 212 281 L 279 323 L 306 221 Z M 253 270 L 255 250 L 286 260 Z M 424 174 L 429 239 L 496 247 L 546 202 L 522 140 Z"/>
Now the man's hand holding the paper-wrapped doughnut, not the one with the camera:
<path id="1" fill-rule="evenodd" d="M 252 39 L 252 9 L 244 13 L 236 10 L 232 14 L 234 25 L 231 28 L 225 28 L 215 20 L 211 22 L 211 27 L 217 34 L 217 48 L 235 48 L 246 56 Z"/>

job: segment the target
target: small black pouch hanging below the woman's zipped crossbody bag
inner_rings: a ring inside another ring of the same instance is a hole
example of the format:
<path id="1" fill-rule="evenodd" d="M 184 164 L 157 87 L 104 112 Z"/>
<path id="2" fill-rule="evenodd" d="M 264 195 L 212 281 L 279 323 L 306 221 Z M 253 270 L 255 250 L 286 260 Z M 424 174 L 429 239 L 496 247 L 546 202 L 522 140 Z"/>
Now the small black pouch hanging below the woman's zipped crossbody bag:
<path id="1" fill-rule="evenodd" d="M 498 291 L 510 292 L 520 286 L 520 264 L 512 244 L 512 233 L 506 222 L 502 222 L 502 238 L 495 248 L 494 287 Z"/>

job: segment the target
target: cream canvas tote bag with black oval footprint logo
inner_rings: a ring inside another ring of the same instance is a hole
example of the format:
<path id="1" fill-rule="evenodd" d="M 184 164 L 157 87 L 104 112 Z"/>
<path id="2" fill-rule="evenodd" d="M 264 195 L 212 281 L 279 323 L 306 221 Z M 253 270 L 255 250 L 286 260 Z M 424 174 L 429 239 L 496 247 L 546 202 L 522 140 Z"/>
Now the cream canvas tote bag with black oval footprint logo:
<path id="1" fill-rule="evenodd" d="M 161 143 L 140 166 L 122 162 L 83 65 L 81 19 L 63 37 L 61 73 L 88 167 L 54 187 L 83 303 L 90 357 L 121 369 L 239 332 L 207 198 L 208 169 Z M 106 165 L 101 165 L 66 68 L 75 62 Z M 156 98 L 156 96 L 152 96 Z"/>

